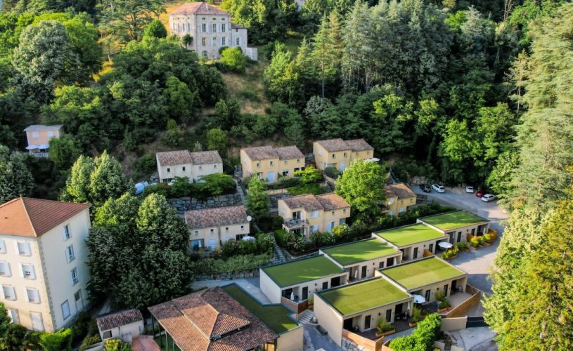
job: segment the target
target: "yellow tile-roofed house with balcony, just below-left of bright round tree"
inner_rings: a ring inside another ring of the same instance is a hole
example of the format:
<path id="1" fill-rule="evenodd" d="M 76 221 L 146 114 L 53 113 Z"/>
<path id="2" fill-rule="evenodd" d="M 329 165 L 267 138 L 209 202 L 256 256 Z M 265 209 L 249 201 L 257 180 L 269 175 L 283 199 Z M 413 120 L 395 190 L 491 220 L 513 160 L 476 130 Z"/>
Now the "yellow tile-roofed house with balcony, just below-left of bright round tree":
<path id="1" fill-rule="evenodd" d="M 278 200 L 278 216 L 288 232 L 309 237 L 313 232 L 331 232 L 350 217 L 350 205 L 340 195 L 305 194 Z"/>

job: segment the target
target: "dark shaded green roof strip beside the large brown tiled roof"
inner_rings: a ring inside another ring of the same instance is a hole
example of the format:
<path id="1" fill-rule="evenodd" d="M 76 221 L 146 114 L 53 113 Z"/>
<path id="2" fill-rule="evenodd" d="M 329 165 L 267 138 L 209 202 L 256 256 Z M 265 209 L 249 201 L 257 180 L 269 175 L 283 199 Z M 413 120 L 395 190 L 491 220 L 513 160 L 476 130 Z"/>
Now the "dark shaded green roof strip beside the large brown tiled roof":
<path id="1" fill-rule="evenodd" d="M 284 333 L 298 326 L 288 317 L 292 311 L 283 305 L 263 305 L 234 284 L 224 286 L 223 289 L 276 333 Z"/>

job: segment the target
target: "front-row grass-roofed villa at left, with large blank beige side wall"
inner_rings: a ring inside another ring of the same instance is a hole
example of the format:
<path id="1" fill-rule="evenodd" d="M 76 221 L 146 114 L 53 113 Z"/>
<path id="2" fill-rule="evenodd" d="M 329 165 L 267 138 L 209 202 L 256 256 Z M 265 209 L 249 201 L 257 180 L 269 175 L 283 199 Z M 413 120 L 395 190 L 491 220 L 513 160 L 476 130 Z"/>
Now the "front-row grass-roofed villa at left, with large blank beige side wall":
<path id="1" fill-rule="evenodd" d="M 393 323 L 401 314 L 409 314 L 413 296 L 398 284 L 377 277 L 316 293 L 314 313 L 337 345 L 346 331 L 368 331 L 385 318 Z"/>

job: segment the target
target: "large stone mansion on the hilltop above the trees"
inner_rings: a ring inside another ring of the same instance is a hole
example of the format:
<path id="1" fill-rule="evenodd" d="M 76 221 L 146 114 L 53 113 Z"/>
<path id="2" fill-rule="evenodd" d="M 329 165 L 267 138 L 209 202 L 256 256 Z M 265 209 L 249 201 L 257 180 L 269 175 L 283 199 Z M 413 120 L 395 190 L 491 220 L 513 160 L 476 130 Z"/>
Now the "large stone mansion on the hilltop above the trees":
<path id="1" fill-rule="evenodd" d="M 220 58 L 219 48 L 238 47 L 251 60 L 257 60 L 257 48 L 247 48 L 247 28 L 231 22 L 231 14 L 205 4 L 192 2 L 169 13 L 169 31 L 179 37 L 189 34 L 187 48 L 207 59 Z"/>

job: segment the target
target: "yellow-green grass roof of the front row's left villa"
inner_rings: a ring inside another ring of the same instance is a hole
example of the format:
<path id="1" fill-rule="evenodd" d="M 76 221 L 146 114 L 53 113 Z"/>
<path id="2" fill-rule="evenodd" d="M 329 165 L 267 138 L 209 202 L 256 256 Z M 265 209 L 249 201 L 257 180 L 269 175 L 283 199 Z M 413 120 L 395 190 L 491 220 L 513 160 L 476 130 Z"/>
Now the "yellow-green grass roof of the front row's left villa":
<path id="1" fill-rule="evenodd" d="M 318 295 L 343 316 L 408 298 L 406 292 L 384 278 L 321 291 Z"/>

